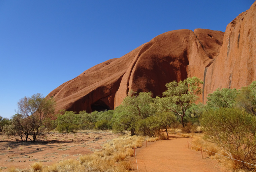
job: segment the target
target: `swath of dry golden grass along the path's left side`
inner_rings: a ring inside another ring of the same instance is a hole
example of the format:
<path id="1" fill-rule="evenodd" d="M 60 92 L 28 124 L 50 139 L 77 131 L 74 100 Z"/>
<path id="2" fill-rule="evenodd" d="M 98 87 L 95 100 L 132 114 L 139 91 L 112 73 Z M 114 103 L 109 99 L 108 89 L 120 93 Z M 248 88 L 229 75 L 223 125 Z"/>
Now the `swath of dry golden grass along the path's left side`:
<path id="1" fill-rule="evenodd" d="M 132 170 L 128 157 L 133 156 L 135 147 L 141 147 L 145 137 L 122 136 L 105 143 L 101 150 L 79 157 L 77 160 L 66 160 L 49 167 L 42 172 L 128 172 Z"/>

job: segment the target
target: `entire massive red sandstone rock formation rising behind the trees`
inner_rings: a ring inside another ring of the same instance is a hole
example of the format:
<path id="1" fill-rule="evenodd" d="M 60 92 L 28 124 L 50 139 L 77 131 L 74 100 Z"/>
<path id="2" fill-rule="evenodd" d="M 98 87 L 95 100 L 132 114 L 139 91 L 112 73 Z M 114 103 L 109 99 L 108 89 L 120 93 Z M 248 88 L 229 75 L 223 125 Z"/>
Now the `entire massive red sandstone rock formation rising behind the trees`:
<path id="1" fill-rule="evenodd" d="M 196 76 L 201 98 L 217 88 L 241 88 L 256 80 L 256 2 L 228 24 L 225 34 L 208 29 L 163 33 L 120 58 L 100 63 L 63 83 L 56 111 L 100 111 L 121 104 L 129 90 L 162 95 L 165 84 Z"/>

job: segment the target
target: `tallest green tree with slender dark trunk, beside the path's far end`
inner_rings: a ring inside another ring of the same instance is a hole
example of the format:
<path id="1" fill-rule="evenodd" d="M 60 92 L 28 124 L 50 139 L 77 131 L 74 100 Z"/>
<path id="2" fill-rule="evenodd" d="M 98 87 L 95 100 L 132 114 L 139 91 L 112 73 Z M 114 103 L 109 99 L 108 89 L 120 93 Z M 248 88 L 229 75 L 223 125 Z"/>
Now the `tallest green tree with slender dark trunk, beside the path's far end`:
<path id="1" fill-rule="evenodd" d="M 156 104 L 159 111 L 174 112 L 181 117 L 181 124 L 184 126 L 184 116 L 187 109 L 192 103 L 198 100 L 198 95 L 202 93 L 200 84 L 203 82 L 197 78 L 187 78 L 184 81 L 177 83 L 172 81 L 165 86 L 167 90 L 163 92 L 162 98 L 156 97 Z"/>

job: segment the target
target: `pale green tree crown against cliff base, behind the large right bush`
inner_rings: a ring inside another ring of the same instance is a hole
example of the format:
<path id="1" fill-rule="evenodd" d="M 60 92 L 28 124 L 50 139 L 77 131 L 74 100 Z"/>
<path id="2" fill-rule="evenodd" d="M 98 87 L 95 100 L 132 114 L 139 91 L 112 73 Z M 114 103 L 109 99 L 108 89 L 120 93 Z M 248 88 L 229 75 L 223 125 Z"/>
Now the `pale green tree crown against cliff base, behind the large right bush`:
<path id="1" fill-rule="evenodd" d="M 238 92 L 235 88 L 228 89 L 217 89 L 211 94 L 208 94 L 207 105 L 213 108 L 228 107 L 233 108 L 235 106 L 235 98 Z"/>

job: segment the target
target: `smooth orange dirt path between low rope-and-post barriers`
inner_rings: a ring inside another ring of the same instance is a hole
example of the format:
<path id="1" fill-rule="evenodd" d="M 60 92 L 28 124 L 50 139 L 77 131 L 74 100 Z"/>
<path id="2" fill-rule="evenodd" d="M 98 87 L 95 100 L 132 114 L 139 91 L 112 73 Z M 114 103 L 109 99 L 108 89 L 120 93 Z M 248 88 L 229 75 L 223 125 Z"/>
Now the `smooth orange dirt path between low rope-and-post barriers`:
<path id="1" fill-rule="evenodd" d="M 143 143 L 136 149 L 139 172 L 229 172 L 205 153 L 188 149 L 190 138 L 170 135 L 169 140 Z M 190 147 L 191 145 L 189 145 Z M 137 171 L 136 160 L 131 157 L 133 171 Z"/>

